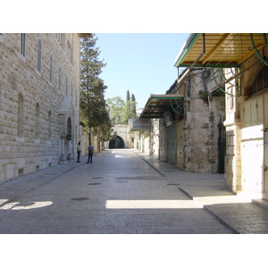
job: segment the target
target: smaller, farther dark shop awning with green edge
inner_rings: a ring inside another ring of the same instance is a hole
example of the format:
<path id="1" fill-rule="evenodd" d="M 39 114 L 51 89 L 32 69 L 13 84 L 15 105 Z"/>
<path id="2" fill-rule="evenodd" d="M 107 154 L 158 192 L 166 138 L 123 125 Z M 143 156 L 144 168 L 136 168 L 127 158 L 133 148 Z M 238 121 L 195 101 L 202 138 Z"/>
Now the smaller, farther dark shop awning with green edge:
<path id="1" fill-rule="evenodd" d="M 168 111 L 183 114 L 182 94 L 151 94 L 139 118 L 161 118 Z"/>

